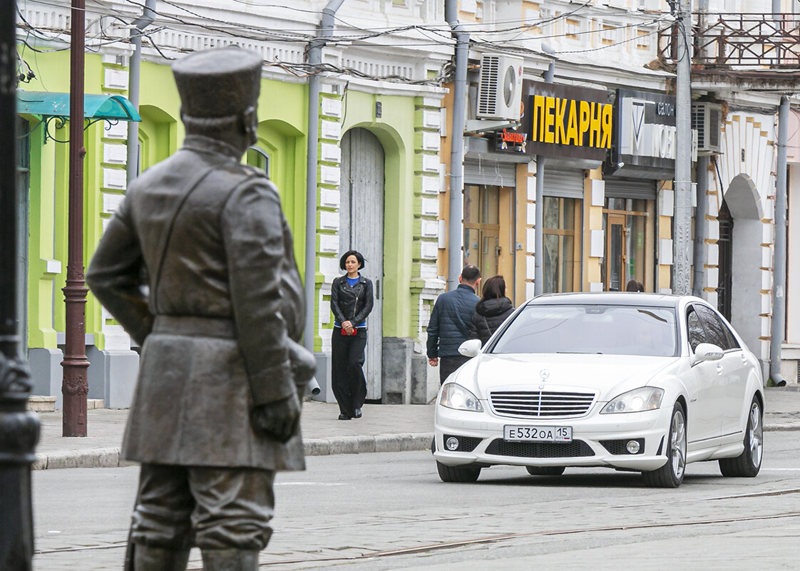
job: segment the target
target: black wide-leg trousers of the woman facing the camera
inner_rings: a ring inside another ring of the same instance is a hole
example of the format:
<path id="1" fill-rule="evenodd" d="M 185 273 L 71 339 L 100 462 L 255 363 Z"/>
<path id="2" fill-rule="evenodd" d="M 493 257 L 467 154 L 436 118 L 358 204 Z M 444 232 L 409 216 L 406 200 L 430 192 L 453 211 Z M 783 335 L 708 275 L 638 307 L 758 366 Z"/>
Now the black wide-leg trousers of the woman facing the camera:
<path id="1" fill-rule="evenodd" d="M 360 409 L 366 399 L 366 328 L 356 330 L 355 335 L 342 335 L 342 328 L 334 327 L 330 338 L 330 384 L 339 412 L 346 417 L 354 417 L 355 409 Z"/>

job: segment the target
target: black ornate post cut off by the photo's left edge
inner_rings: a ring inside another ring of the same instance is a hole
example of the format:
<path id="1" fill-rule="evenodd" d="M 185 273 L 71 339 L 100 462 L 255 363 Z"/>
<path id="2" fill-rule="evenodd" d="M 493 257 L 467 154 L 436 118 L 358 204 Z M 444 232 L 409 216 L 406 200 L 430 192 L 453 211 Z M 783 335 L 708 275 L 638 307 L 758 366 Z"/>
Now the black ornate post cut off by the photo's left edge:
<path id="1" fill-rule="evenodd" d="M 15 2 L 0 2 L 0 569 L 30 571 L 34 556 L 30 465 L 39 420 L 28 412 L 30 373 L 17 311 L 17 47 Z"/>

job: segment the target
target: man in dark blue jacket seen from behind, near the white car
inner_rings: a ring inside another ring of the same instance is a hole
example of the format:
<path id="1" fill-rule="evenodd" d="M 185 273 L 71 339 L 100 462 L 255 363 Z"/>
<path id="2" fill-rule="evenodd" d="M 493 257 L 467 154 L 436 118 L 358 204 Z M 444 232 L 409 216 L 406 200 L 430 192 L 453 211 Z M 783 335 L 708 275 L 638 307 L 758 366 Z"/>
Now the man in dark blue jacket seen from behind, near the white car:
<path id="1" fill-rule="evenodd" d="M 455 369 L 470 360 L 458 353 L 458 347 L 470 338 L 470 321 L 480 299 L 475 289 L 481 282 L 478 266 L 464 266 L 458 287 L 436 298 L 428 323 L 427 353 L 431 366 L 440 365 L 439 383 L 444 383 Z"/>

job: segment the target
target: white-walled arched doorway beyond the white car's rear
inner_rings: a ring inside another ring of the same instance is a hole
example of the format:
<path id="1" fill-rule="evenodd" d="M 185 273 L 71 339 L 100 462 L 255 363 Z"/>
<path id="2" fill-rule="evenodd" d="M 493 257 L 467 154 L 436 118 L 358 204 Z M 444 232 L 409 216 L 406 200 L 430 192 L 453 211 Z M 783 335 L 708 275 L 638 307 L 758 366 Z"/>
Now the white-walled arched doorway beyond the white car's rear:
<path id="1" fill-rule="evenodd" d="M 718 305 L 722 301 L 730 307 L 721 305 L 720 309 L 728 312 L 726 317 L 760 357 L 764 225 L 761 199 L 750 177 L 739 174 L 730 182 L 723 208 L 720 238 L 726 239 L 727 244 L 723 242 L 719 250 L 718 284 L 726 295 L 718 299 Z"/>

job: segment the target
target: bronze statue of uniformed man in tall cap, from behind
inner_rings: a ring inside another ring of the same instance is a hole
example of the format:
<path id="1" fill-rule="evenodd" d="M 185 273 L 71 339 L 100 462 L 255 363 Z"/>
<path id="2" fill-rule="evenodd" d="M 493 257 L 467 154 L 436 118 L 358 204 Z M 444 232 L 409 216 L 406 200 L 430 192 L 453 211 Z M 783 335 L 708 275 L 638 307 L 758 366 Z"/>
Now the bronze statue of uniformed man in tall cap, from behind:
<path id="1" fill-rule="evenodd" d="M 278 191 L 241 164 L 262 59 L 240 48 L 173 66 L 186 140 L 128 189 L 86 282 L 142 346 L 122 446 L 142 464 L 126 568 L 252 571 L 276 470 L 305 468 L 298 425 L 313 357 Z"/>

